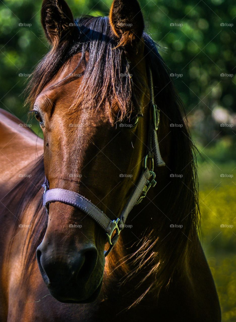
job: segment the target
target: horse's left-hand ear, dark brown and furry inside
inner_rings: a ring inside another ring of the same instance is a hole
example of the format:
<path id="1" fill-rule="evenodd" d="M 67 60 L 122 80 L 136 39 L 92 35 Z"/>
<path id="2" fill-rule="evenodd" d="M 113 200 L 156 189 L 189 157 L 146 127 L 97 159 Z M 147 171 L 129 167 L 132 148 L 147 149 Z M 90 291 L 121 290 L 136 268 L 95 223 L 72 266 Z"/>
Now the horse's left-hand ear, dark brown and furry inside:
<path id="1" fill-rule="evenodd" d="M 66 40 L 75 30 L 72 12 L 64 0 L 44 0 L 41 23 L 47 39 L 54 46 Z"/>

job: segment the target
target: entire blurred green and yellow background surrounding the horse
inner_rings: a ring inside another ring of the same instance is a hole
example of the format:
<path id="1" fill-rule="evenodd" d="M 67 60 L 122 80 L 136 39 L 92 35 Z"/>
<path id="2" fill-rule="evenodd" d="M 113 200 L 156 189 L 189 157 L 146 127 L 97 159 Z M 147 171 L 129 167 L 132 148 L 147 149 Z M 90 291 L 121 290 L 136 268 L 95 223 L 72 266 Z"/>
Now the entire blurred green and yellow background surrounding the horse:
<path id="1" fill-rule="evenodd" d="M 75 17 L 108 15 L 111 2 L 67 0 Z M 223 322 L 235 322 L 236 3 L 140 0 L 140 4 L 146 32 L 159 43 L 169 73 L 174 74 L 171 77 L 200 151 L 203 246 L 220 296 Z M 0 2 L 0 107 L 23 121 L 27 111 L 22 92 L 50 48 L 40 24 L 40 8 L 41 1 Z M 232 126 L 222 128 L 221 123 Z M 32 129 L 38 132 L 36 121 Z M 233 228 L 220 227 L 233 223 Z"/>

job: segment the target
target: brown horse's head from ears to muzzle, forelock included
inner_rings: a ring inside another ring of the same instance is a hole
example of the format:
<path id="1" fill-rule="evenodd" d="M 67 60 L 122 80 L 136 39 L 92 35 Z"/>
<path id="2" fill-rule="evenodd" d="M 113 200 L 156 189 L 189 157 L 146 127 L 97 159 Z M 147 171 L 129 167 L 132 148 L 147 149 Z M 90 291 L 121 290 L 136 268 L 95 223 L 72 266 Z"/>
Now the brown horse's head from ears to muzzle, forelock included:
<path id="1" fill-rule="evenodd" d="M 109 17 L 75 21 L 64 0 L 45 0 L 41 20 L 52 49 L 35 71 L 31 100 L 48 185 L 84 196 L 116 220 L 143 171 L 152 115 L 139 4 L 114 0 Z M 84 211 L 50 203 L 36 254 L 57 300 L 97 298 L 106 243 Z"/>

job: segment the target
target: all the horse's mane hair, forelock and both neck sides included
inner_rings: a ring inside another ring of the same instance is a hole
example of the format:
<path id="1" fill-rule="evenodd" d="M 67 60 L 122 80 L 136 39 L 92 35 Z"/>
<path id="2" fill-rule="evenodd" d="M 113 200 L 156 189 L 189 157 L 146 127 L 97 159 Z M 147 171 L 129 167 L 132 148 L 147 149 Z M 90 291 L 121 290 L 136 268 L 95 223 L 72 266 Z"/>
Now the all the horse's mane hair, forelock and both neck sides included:
<path id="1" fill-rule="evenodd" d="M 125 48 L 117 47 L 118 43 L 111 33 L 108 17 L 83 17 L 76 20 L 76 23 L 80 30 L 78 39 L 62 43 L 60 48 L 53 48 L 36 67 L 27 87 L 29 97 L 26 102 L 30 105 L 34 104 L 36 97 L 55 77 L 63 64 L 70 57 L 81 52 L 77 67 L 84 64 L 86 68 L 81 87 L 75 98 L 76 104 L 79 102 L 82 105 L 99 108 L 108 100 L 112 111 L 112 101 L 115 99 L 119 104 L 120 117 L 127 116 L 134 106 L 138 106 L 139 96 L 137 93 L 139 91 L 136 90 L 130 77 L 121 76 L 122 74 L 135 73 L 131 70 L 130 62 L 126 58 Z M 140 268 L 147 263 L 152 263 L 150 270 L 146 271 L 142 281 L 153 276 L 155 277 L 154 281 L 152 279 L 148 290 L 142 293 L 133 305 L 138 304 L 149 291 L 155 290 L 159 293 L 163 287 L 169 285 L 173 274 L 181 267 L 186 252 L 190 253 L 194 249 L 199 227 L 198 180 L 193 156 L 195 148 L 190 138 L 187 122 L 183 118 L 183 105 L 169 77 L 165 63 L 159 55 L 157 44 L 147 33 L 143 33 L 143 39 L 146 60 L 151 62 L 156 104 L 163 114 L 162 122 L 167 126 L 170 123 L 182 125 L 181 129 L 170 127 L 171 149 L 168 166 L 171 170 L 170 173 L 181 174 L 183 177 L 182 179 L 171 178 L 170 184 L 157 200 L 159 200 L 164 213 L 168 214 L 172 223 L 181 224 L 183 228 L 181 230 L 173 229 L 169 233 L 169 219 L 163 217 L 158 232 L 150 228 L 139 250 L 129 259 L 120 259 L 121 264 L 131 261 L 134 267 L 131 272 L 124 276 L 123 282 L 137 275 Z M 86 61 L 87 53 L 89 59 Z M 137 75 L 134 78 L 135 81 L 137 79 L 136 84 L 138 84 L 140 77 L 140 75 Z M 70 75 L 68 75 L 63 81 L 70 80 Z M 142 83 L 142 79 L 140 82 Z M 142 88 L 141 86 L 138 87 Z M 89 93 L 89 95 L 82 95 L 83 92 Z M 25 242 L 28 252 L 25 260 L 27 266 L 36 256 L 35 240 L 32 241 L 36 237 L 41 242 L 47 225 L 47 215 L 42 208 L 42 196 L 39 197 L 38 190 L 43 183 L 43 160 L 38 162 L 31 175 L 34 186 L 32 186 L 30 194 L 28 192 L 28 181 L 25 179 L 16 186 L 13 194 L 13 198 L 19 200 L 17 208 L 19 219 L 30 203 L 36 203 L 36 213 L 32 214 L 32 230 L 28 232 L 31 235 L 26 238 L 27 245 Z M 24 200 L 21 200 L 22 194 Z M 159 237 L 157 238 L 157 236 Z M 31 242 L 28 241 L 28 238 Z M 158 252 L 153 251 L 155 244 L 158 245 Z M 109 256 L 112 256 L 112 254 Z M 158 264 L 153 264 L 154 257 L 158 257 Z M 161 276 L 160 280 L 158 280 L 158 276 Z"/>

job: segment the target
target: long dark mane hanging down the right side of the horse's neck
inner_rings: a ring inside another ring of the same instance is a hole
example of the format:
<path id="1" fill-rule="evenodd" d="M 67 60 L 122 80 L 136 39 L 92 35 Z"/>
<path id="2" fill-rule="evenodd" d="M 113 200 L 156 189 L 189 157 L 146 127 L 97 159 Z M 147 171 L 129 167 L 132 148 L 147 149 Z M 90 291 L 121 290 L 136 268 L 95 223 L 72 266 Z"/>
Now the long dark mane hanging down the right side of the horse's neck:
<path id="1" fill-rule="evenodd" d="M 138 288 L 144 281 L 149 281 L 148 289 L 142 291 L 128 308 L 137 305 L 149 292 L 158 297 L 160 291 L 169 287 L 175 274 L 181 275 L 184 260 L 196 249 L 200 229 L 199 186 L 194 157 L 197 148 L 190 137 L 182 101 L 158 52 L 157 44 L 146 33 L 143 38 L 144 55 L 151 62 L 155 103 L 162 112 L 161 122 L 167 126 L 171 123 L 182 125 L 181 130 L 180 127 L 169 127 L 171 148 L 168 160 L 169 174 L 179 174 L 182 178 L 170 178 L 170 183 L 155 198 L 159 214 L 168 216 L 161 216 L 158 230 L 147 228 L 142 242 L 137 242 L 140 244 L 137 251 L 120 260 L 116 257 L 119 263 L 116 269 L 126 267 L 127 264 L 132 267 L 131 271 L 124 270 L 121 285 L 134 279 L 137 274 L 140 280 Z M 170 228 L 171 223 L 183 227 L 173 229 Z M 142 269 L 145 274 L 141 274 Z"/>

